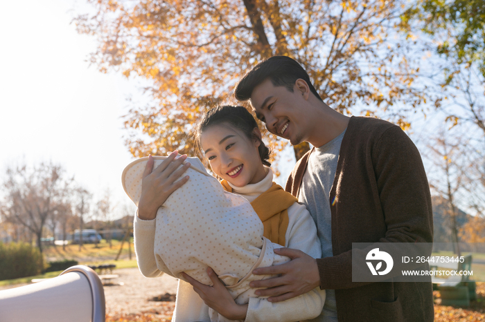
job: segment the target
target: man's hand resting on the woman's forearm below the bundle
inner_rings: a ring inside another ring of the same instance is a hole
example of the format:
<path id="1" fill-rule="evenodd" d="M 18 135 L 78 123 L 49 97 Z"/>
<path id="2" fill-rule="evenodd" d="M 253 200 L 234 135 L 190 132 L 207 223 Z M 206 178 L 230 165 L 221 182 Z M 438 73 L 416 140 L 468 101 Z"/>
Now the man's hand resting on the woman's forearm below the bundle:
<path id="1" fill-rule="evenodd" d="M 270 302 L 281 302 L 310 292 L 320 285 L 317 260 L 298 249 L 278 248 L 276 254 L 288 256 L 291 261 L 281 265 L 254 269 L 253 274 L 277 274 L 279 276 L 260 281 L 252 281 L 249 286 L 265 288 L 256 295 L 272 296 Z"/>

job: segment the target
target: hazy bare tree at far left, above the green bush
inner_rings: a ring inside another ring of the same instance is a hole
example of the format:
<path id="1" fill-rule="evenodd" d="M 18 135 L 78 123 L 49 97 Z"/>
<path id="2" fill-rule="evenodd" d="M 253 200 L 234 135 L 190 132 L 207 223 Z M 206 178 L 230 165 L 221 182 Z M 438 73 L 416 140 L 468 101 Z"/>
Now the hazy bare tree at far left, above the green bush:
<path id="1" fill-rule="evenodd" d="M 65 178 L 64 169 L 53 163 L 34 167 L 8 167 L 3 192 L 6 196 L 0 214 L 9 222 L 23 225 L 35 234 L 42 254 L 42 232 L 65 196 L 64 189 L 72 179 Z"/>

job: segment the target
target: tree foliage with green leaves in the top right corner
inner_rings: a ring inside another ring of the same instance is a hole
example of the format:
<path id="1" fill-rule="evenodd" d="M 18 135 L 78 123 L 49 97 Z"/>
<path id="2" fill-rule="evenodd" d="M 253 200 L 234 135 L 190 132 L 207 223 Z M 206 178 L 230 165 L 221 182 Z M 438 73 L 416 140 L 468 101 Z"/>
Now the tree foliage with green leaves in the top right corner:
<path id="1" fill-rule="evenodd" d="M 447 121 L 471 122 L 485 136 L 484 1 L 418 0 L 403 19 L 408 35 L 423 32 L 426 50 L 440 57 L 433 59 L 432 78 L 441 88 L 436 106 Z"/>

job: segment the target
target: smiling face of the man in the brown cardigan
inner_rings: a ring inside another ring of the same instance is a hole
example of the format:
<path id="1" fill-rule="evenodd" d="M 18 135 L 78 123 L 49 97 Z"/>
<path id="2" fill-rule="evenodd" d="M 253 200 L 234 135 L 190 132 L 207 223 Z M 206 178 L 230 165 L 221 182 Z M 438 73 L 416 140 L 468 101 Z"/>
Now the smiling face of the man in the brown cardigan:
<path id="1" fill-rule="evenodd" d="M 266 129 L 293 145 L 304 139 L 305 115 L 304 108 L 300 108 L 303 104 L 306 100 L 297 86 L 290 92 L 285 86 L 275 87 L 271 79 L 256 86 L 251 95 L 256 117 L 265 123 Z"/>

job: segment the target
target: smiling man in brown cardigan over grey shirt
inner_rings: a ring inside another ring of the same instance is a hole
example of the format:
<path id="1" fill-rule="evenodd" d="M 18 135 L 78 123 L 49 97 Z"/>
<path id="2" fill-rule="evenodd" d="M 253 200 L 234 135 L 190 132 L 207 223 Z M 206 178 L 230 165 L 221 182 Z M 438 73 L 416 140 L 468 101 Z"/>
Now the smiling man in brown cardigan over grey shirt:
<path id="1" fill-rule="evenodd" d="M 252 282 L 256 294 L 284 301 L 320 286 L 316 321 L 432 321 L 430 282 L 352 282 L 352 243 L 432 243 L 430 190 L 421 156 L 396 125 L 346 117 L 327 106 L 305 70 L 272 57 L 236 85 L 271 133 L 315 146 L 297 162 L 286 190 L 308 207 L 324 256 L 281 249 L 290 263 L 254 270 L 279 277 Z"/>

